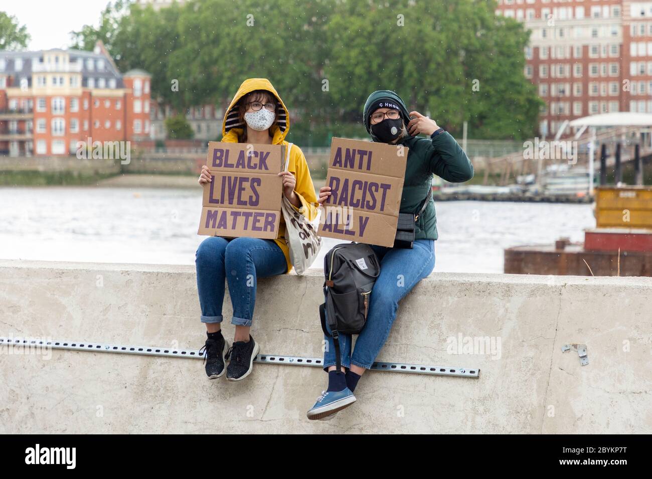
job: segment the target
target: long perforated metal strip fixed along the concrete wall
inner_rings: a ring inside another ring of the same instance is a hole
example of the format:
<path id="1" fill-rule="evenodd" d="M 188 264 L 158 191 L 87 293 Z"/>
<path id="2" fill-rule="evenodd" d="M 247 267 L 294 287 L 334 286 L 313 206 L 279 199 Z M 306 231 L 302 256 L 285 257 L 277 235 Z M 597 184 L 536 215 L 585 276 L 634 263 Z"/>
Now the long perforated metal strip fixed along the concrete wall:
<path id="1" fill-rule="evenodd" d="M 87 341 L 53 341 L 27 338 L 0 338 L 0 347 L 27 347 L 40 349 L 68 349 L 70 351 L 92 351 L 93 353 L 122 353 L 142 356 L 167 356 L 174 358 L 203 359 L 198 349 L 173 349 L 170 347 L 132 346 L 108 343 L 89 343 Z M 266 364 L 288 364 L 289 366 L 316 366 L 323 368 L 322 358 L 300 356 L 266 355 L 260 353 L 254 362 Z M 374 371 L 393 371 L 396 373 L 429 374 L 435 376 L 480 377 L 478 368 L 450 368 L 447 366 L 423 366 L 400 362 L 374 362 Z"/>

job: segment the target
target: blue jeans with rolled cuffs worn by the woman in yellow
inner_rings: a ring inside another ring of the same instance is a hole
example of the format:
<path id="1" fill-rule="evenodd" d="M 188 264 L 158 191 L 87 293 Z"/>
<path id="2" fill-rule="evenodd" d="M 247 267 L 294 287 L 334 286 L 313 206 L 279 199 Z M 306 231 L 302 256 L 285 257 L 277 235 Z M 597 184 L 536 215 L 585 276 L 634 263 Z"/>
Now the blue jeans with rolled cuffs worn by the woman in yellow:
<path id="1" fill-rule="evenodd" d="M 222 323 L 224 282 L 233 305 L 231 323 L 251 326 L 256 304 L 256 278 L 284 274 L 288 263 L 278 244 L 259 238 L 210 237 L 195 255 L 201 322 Z"/>

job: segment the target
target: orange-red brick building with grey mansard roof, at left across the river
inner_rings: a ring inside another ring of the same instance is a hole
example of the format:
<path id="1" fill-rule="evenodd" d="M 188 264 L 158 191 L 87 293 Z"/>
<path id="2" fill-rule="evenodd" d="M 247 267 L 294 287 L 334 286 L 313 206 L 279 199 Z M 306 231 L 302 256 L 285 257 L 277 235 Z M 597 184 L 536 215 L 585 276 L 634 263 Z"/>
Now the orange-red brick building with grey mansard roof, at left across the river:
<path id="1" fill-rule="evenodd" d="M 149 138 L 150 75 L 94 51 L 0 51 L 0 154 L 74 154 L 78 141 Z"/>

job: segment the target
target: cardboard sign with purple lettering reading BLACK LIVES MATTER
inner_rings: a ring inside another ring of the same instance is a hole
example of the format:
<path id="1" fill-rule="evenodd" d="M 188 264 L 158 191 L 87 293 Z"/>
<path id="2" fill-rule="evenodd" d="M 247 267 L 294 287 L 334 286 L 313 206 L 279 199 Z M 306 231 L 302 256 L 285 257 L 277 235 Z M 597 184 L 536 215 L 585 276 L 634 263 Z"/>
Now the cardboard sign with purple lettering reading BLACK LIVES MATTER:
<path id="1" fill-rule="evenodd" d="M 210 141 L 199 235 L 274 239 L 280 222 L 286 147 Z"/>

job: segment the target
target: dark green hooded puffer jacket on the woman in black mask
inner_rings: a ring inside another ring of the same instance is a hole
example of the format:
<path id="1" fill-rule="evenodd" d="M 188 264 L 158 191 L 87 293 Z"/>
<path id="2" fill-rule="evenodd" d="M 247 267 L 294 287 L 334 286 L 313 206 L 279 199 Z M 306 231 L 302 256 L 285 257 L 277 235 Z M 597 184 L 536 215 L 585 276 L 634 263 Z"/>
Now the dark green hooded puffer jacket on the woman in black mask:
<path id="1" fill-rule="evenodd" d="M 402 107 L 401 114 L 409 121 L 409 111 L 398 94 L 389 90 L 374 91 L 364 104 L 364 126 L 372 136 L 373 141 L 379 141 L 371 133 L 369 113 L 378 106 L 374 103 L 380 98 L 392 98 Z M 404 120 L 405 121 L 405 120 Z M 406 125 L 407 126 L 407 125 Z M 432 175 L 437 175 L 446 181 L 460 183 L 473 178 L 473 165 L 462 147 L 448 132 L 437 134 L 434 138 L 406 136 L 396 144 L 405 145 L 408 151 L 408 166 L 403 184 L 400 212 L 417 213 L 422 202 L 432 188 Z M 435 202 L 431 198 L 426 210 L 419 216 L 415 227 L 415 239 L 437 239 L 437 217 Z"/>

